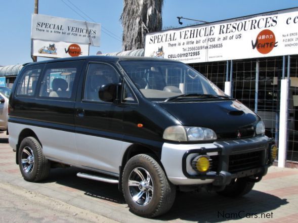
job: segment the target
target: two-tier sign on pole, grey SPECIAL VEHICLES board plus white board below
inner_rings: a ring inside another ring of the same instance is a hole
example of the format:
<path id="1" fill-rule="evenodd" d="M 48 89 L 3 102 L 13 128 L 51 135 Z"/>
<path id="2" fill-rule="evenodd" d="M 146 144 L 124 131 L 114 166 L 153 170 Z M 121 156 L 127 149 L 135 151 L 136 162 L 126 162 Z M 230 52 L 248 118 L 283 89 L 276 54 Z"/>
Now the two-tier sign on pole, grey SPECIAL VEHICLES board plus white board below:
<path id="1" fill-rule="evenodd" d="M 100 46 L 101 24 L 32 14 L 31 55 L 61 58 L 89 55 Z"/>

